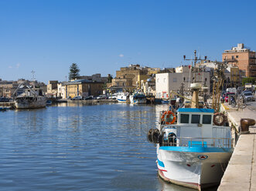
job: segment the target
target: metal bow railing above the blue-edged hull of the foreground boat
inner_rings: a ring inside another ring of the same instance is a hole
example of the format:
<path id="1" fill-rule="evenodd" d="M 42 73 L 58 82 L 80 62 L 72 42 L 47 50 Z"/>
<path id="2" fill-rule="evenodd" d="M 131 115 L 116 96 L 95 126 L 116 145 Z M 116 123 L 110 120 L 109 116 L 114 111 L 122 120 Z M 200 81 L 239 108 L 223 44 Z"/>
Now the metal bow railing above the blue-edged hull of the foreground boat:
<path id="1" fill-rule="evenodd" d="M 233 148 L 232 138 L 195 138 L 195 137 L 175 137 L 163 136 L 160 146 L 186 146 L 204 148 Z"/>

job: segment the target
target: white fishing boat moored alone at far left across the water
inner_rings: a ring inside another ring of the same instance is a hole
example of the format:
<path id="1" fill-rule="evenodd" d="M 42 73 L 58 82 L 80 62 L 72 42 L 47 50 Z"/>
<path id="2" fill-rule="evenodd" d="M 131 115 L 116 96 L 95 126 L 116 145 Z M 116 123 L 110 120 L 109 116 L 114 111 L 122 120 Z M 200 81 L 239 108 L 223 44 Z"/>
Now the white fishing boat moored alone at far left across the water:
<path id="1" fill-rule="evenodd" d="M 36 92 L 35 88 L 31 88 L 29 85 L 19 85 L 18 89 L 15 90 L 19 92 L 22 89 L 22 93 L 15 96 L 15 108 L 16 109 L 38 109 L 46 107 L 46 97 L 40 92 Z"/>

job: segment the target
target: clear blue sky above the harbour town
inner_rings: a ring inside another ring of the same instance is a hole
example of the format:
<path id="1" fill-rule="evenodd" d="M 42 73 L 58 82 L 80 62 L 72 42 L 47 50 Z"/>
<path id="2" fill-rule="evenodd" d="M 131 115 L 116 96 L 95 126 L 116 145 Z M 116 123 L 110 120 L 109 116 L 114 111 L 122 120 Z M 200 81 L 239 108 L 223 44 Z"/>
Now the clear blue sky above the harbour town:
<path id="1" fill-rule="evenodd" d="M 64 81 L 130 64 L 176 67 L 196 49 L 221 60 L 244 43 L 256 50 L 254 1 L 0 0 L 0 79 Z"/>

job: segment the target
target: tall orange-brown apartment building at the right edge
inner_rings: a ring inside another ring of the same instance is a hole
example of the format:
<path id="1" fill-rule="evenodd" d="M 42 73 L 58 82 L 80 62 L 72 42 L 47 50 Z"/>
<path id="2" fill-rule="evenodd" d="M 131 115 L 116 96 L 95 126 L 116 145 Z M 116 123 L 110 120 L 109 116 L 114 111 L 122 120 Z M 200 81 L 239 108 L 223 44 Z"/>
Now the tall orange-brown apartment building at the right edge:
<path id="1" fill-rule="evenodd" d="M 244 72 L 243 77 L 256 77 L 256 55 L 254 51 L 246 49 L 243 43 L 237 44 L 222 54 L 222 61 L 237 66 Z"/>

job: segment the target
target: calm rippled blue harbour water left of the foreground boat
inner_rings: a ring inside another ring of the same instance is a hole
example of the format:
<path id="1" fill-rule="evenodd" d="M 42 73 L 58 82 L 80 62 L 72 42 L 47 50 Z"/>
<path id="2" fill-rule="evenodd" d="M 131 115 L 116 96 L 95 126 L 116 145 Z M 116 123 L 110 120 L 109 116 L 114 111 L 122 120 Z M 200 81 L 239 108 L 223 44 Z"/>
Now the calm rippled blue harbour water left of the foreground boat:
<path id="1" fill-rule="evenodd" d="M 0 112 L 0 190 L 193 190 L 157 176 L 146 139 L 167 106 Z"/>

